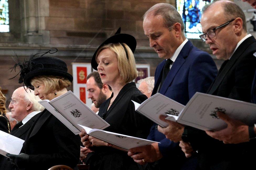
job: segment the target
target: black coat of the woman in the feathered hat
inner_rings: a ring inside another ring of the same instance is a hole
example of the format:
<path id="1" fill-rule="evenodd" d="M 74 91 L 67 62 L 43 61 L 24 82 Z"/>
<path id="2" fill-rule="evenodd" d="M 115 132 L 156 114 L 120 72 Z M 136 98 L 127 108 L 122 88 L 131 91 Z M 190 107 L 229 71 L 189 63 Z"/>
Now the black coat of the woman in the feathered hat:
<path id="1" fill-rule="evenodd" d="M 45 109 L 29 129 L 21 152 L 29 155 L 26 170 L 55 165 L 74 168 L 80 156 L 80 137 Z"/>

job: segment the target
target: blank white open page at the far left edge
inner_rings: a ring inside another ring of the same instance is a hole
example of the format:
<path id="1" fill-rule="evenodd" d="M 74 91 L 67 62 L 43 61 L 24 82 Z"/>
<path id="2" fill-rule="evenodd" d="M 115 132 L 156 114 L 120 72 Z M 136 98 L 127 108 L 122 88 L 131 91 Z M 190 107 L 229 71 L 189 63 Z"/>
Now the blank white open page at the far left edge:
<path id="1" fill-rule="evenodd" d="M 24 140 L 0 130 L 0 154 L 6 157 L 7 153 L 19 155 Z"/>

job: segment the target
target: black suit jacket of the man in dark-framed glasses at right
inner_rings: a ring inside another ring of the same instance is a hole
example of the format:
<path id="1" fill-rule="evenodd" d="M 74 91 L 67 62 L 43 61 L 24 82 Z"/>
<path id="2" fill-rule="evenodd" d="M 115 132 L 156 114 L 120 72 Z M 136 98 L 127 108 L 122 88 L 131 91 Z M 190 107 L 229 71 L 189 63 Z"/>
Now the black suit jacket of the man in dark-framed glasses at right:
<path id="1" fill-rule="evenodd" d="M 251 36 L 241 43 L 229 61 L 222 64 L 207 93 L 249 102 L 256 68 L 255 51 L 256 40 Z M 250 159 L 255 146 L 250 146 L 249 142 L 223 144 L 204 131 L 191 127 L 185 130 L 193 149 L 198 150 L 201 169 L 247 169 L 254 164 Z"/>

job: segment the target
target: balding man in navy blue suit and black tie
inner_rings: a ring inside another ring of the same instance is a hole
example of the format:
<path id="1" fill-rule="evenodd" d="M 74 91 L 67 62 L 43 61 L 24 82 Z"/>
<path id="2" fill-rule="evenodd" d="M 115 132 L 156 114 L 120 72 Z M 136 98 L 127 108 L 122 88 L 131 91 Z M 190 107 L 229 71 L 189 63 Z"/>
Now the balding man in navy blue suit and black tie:
<path id="1" fill-rule="evenodd" d="M 156 69 L 152 95 L 159 92 L 186 105 L 195 92 L 206 92 L 217 75 L 216 65 L 208 53 L 186 39 L 183 20 L 176 8 L 159 3 L 151 7 L 143 18 L 143 29 L 150 47 L 164 59 Z M 147 139 L 161 143 L 133 148 L 128 152 L 135 162 L 141 165 L 149 163 L 147 169 L 165 169 L 170 163 L 173 163 L 172 169 L 185 169 L 186 166 L 193 169 L 193 164 L 196 164 L 195 160 L 185 160 L 179 143 L 160 133 L 157 124 L 152 126 Z"/>

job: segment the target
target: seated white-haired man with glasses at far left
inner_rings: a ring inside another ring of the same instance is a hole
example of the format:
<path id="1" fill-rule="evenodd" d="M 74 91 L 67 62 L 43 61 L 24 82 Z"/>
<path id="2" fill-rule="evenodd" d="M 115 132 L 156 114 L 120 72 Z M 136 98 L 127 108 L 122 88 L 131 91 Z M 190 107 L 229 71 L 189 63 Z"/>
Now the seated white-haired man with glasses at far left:
<path id="1" fill-rule="evenodd" d="M 20 121 L 14 126 L 10 134 L 23 140 L 25 140 L 35 119 L 38 118 L 38 113 L 44 110 L 44 107 L 38 103 L 40 98 L 34 95 L 34 91 L 25 89 L 27 88 L 19 87 L 16 89 L 12 94 L 12 99 L 9 105 L 9 109 L 11 109 L 12 112 L 11 116 Z M 10 161 L 7 161 L 6 157 L 0 159 L 1 170 L 9 170 L 12 169 L 11 167 L 12 165 Z"/>

